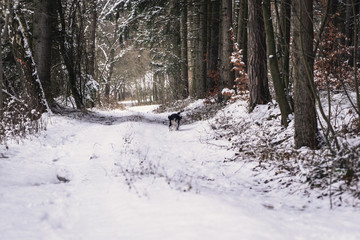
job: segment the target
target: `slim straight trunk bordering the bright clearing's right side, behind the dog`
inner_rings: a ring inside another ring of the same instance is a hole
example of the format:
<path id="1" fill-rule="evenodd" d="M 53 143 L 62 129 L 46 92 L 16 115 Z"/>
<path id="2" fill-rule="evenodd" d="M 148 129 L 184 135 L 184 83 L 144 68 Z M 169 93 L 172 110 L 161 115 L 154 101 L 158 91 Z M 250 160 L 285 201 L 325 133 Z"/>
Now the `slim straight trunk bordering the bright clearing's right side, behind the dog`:
<path id="1" fill-rule="evenodd" d="M 180 84 L 180 95 L 182 98 L 186 98 L 188 96 L 188 68 L 187 68 L 187 9 L 186 5 L 181 6 L 181 15 L 180 15 L 180 56 L 181 56 L 181 84 Z"/>

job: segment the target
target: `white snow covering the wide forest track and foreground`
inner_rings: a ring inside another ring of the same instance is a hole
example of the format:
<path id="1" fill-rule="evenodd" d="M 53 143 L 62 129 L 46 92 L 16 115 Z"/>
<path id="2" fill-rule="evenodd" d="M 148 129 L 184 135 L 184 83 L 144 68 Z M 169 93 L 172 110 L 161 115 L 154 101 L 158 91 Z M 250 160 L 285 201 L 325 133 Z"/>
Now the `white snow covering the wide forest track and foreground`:
<path id="1" fill-rule="evenodd" d="M 3 147 L 0 238 L 360 239 L 359 209 L 268 192 L 207 121 L 169 131 L 153 108 L 52 116 Z"/>

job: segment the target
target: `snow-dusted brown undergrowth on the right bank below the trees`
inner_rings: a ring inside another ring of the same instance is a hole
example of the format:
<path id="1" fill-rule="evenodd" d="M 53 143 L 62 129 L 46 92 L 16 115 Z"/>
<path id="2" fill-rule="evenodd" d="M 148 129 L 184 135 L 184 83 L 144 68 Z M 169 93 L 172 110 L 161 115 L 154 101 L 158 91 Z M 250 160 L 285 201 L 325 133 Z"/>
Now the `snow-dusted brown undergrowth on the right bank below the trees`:
<path id="1" fill-rule="evenodd" d="M 295 149 L 293 121 L 283 128 L 279 110 L 273 104 L 258 106 L 239 119 L 220 112 L 211 120 L 211 128 L 213 139 L 228 141 L 229 149 L 236 151 L 228 161 L 257 162 L 254 171 L 268 173 L 264 184 L 277 180 L 280 188 L 290 189 L 296 182 L 304 185 L 303 194 L 329 199 L 331 207 L 358 207 L 360 136 L 357 125 L 340 121 L 340 116 L 341 113 L 337 116 L 337 137 L 341 150 L 335 152 L 326 145 L 318 150 Z"/>

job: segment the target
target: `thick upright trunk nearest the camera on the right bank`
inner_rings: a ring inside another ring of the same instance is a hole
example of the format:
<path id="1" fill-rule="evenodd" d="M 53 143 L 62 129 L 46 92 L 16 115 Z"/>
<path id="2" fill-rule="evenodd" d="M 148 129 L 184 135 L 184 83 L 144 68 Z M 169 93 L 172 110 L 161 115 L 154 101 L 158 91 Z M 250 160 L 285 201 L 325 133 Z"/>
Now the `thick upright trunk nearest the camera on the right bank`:
<path id="1" fill-rule="evenodd" d="M 295 147 L 317 146 L 314 96 L 313 1 L 292 1 L 292 66 L 294 67 Z"/>

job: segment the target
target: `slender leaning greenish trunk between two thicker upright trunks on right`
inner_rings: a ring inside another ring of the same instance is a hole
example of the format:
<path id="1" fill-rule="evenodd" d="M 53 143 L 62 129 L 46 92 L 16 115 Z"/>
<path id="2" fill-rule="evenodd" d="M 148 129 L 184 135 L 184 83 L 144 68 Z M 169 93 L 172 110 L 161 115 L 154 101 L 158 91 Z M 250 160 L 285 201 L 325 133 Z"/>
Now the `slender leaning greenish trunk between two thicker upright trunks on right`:
<path id="1" fill-rule="evenodd" d="M 274 28 L 272 24 L 271 18 L 271 9 L 270 9 L 270 0 L 263 0 L 263 17 L 265 23 L 265 32 L 266 32 L 266 42 L 267 42 L 267 50 L 269 56 L 269 66 L 271 77 L 274 83 L 274 90 L 276 95 L 276 100 L 279 104 L 281 111 L 281 124 L 287 127 L 288 123 L 288 115 L 291 113 L 290 105 L 287 101 L 286 93 L 285 93 L 285 85 L 282 81 L 279 63 L 277 60 L 276 54 L 276 44 L 275 44 L 275 36 L 274 36 Z"/>

